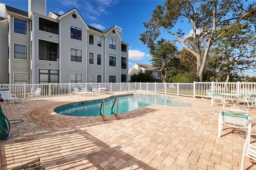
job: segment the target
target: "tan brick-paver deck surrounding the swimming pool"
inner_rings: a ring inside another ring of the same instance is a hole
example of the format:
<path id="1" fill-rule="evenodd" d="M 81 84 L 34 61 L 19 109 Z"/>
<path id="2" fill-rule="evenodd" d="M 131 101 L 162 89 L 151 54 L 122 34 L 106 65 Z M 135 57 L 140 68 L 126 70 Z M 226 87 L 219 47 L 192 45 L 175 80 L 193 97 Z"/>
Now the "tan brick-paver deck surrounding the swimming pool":
<path id="1" fill-rule="evenodd" d="M 121 94 L 126 93 L 25 99 L 24 104 L 11 106 L 1 102 L 9 120 L 24 122 L 11 125 L 8 139 L 0 141 L 0 169 L 18 169 L 38 160 L 46 170 L 240 169 L 245 132 L 241 136 L 223 126 L 218 138 L 222 105 L 211 107 L 210 99 L 165 95 L 193 106 L 150 105 L 127 112 L 120 120 L 106 116 L 106 122 L 100 116 L 71 117 L 53 111 L 67 103 Z M 226 108 L 232 106 L 226 103 Z M 249 114 L 256 132 L 256 109 Z M 246 157 L 244 168 L 253 170 L 256 164 Z"/>

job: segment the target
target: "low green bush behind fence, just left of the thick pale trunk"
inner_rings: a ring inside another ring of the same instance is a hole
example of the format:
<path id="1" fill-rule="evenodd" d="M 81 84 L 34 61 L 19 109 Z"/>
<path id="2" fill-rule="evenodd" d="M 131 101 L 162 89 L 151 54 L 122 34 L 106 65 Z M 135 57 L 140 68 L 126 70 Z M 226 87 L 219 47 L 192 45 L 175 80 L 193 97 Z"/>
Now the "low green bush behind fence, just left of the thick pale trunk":
<path id="1" fill-rule="evenodd" d="M 179 73 L 172 78 L 173 83 L 193 83 L 194 81 L 199 81 L 199 77 L 194 73 Z"/>

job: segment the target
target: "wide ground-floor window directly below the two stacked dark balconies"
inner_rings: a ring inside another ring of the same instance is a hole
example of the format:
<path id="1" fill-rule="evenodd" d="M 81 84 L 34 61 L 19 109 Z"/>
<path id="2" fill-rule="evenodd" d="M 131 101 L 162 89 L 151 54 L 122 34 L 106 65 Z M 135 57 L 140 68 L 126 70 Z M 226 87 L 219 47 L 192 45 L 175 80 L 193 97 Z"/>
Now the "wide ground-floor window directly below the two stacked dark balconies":
<path id="1" fill-rule="evenodd" d="M 59 83 L 59 71 L 39 69 L 39 83 Z"/>

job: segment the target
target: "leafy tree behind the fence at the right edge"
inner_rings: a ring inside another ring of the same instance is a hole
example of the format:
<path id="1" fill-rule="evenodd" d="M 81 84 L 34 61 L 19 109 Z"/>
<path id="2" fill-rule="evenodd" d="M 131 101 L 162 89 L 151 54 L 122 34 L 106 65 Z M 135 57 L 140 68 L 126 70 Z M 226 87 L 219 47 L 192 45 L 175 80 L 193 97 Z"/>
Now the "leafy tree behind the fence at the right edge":
<path id="1" fill-rule="evenodd" d="M 216 39 L 215 47 L 211 51 L 213 57 L 208 65 L 215 69 L 218 75 L 224 75 L 226 82 L 231 77 L 238 79 L 239 73 L 243 74 L 248 69 L 255 69 L 255 34 L 244 31 L 244 27 L 248 27 L 248 24 L 236 24 L 233 30 L 222 30 L 223 34 Z"/>

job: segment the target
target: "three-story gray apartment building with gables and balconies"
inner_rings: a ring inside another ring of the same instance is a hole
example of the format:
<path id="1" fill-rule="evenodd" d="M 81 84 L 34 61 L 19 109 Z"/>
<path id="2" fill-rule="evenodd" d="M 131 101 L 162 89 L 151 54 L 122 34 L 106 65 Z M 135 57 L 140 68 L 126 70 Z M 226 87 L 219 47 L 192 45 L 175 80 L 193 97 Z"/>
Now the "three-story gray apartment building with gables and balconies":
<path id="1" fill-rule="evenodd" d="M 6 6 L 0 30 L 0 84 L 128 82 L 122 28 L 98 30 L 76 8 L 47 16 L 46 0 L 28 0 L 28 12 Z"/>

